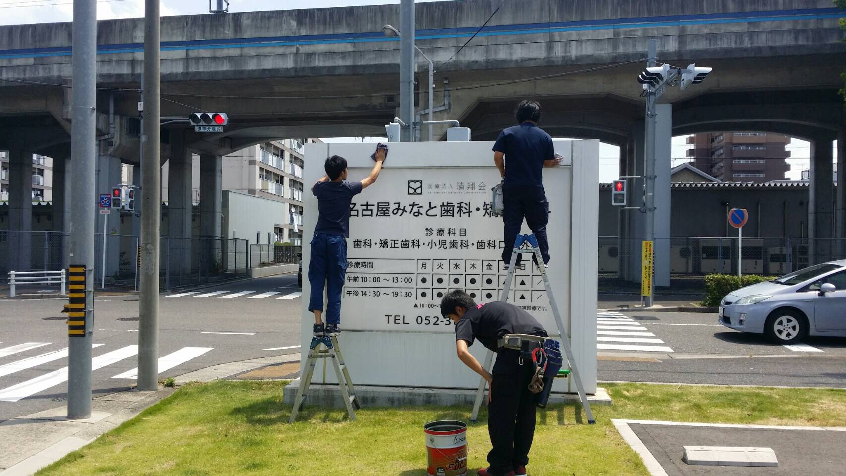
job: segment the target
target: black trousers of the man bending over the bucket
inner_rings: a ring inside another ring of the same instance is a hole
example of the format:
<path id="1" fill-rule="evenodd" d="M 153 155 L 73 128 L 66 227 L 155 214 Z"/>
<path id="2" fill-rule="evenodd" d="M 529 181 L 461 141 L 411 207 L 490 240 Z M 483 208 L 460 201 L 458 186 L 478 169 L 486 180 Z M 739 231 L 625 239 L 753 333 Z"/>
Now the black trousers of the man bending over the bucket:
<path id="1" fill-rule="evenodd" d="M 519 351 L 501 350 L 497 363 L 501 358 L 517 359 Z M 491 473 L 496 476 L 528 464 L 529 449 L 535 436 L 535 394 L 529 390 L 535 364 L 529 361 L 508 367 L 511 371 L 504 374 L 496 373 L 494 368 L 487 417 L 487 430 L 493 445 L 487 461 L 491 463 Z"/>

